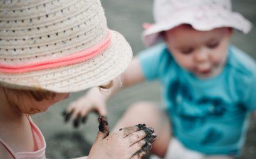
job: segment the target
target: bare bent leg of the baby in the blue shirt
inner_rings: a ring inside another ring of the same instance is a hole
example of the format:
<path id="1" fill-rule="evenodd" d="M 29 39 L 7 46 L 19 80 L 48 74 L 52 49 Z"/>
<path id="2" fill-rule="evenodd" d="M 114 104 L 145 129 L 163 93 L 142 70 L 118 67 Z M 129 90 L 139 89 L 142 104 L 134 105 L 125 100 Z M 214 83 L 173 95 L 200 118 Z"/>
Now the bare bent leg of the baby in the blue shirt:
<path id="1" fill-rule="evenodd" d="M 157 137 L 155 142 L 153 142 L 151 153 L 159 157 L 164 157 L 172 137 L 171 126 L 167 115 L 157 105 L 150 102 L 138 102 L 128 108 L 116 124 L 113 132 L 138 123 L 145 123 L 147 127 L 154 128 Z"/>

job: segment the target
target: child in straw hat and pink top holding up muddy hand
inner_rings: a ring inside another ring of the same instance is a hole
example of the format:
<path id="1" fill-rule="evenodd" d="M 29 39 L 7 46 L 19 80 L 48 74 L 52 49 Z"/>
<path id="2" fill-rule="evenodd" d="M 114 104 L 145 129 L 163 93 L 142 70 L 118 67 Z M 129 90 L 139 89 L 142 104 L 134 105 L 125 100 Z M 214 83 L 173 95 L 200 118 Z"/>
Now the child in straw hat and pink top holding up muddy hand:
<path id="1" fill-rule="evenodd" d="M 106 26 L 99 0 L 0 2 L 0 158 L 44 159 L 46 143 L 30 115 L 126 69 L 125 38 Z M 88 158 L 142 158 L 156 135 L 145 125 L 100 132 Z M 145 138 L 146 137 L 146 138 Z M 83 157 L 87 158 L 87 157 Z"/>

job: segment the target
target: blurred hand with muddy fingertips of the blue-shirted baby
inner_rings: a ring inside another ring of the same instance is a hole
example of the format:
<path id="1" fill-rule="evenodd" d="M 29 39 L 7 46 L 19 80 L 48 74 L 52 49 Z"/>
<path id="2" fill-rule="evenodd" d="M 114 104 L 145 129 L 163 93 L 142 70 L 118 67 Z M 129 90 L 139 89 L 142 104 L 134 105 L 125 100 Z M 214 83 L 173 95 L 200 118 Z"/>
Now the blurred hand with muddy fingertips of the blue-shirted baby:
<path id="1" fill-rule="evenodd" d="M 84 97 L 69 104 L 63 112 L 64 121 L 68 122 L 69 118 L 72 117 L 73 125 L 77 128 L 80 123 L 86 122 L 86 117 L 91 111 L 101 116 L 106 116 L 106 100 L 104 96 L 97 88 L 89 90 Z"/>

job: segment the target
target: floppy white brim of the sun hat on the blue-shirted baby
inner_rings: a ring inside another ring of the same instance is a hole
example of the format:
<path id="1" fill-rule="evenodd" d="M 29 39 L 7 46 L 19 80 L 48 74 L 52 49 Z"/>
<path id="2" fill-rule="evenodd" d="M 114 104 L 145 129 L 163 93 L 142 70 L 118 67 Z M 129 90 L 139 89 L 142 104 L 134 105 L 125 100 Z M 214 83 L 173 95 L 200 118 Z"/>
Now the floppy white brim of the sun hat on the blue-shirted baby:
<path id="1" fill-rule="evenodd" d="M 180 24 L 190 24 L 198 31 L 210 31 L 218 27 L 232 27 L 245 34 L 250 31 L 252 26 L 250 21 L 238 12 L 222 11 L 216 13 L 209 10 L 207 13 L 206 16 L 208 17 L 204 18 L 202 16 L 205 15 L 200 15 L 201 13 L 196 11 L 193 13 L 189 11 L 177 12 L 165 21 L 156 22 L 146 29 L 142 34 L 143 42 L 145 46 L 153 46 L 162 40 L 160 37 L 161 31 L 168 31 Z"/>

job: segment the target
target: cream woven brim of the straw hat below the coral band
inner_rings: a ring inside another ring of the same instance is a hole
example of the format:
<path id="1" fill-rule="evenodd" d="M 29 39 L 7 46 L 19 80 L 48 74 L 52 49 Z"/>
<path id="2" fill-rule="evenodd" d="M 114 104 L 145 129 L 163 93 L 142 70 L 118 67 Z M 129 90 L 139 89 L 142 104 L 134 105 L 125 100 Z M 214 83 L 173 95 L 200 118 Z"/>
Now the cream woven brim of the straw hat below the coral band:
<path id="1" fill-rule="evenodd" d="M 111 31 L 111 46 L 90 60 L 23 74 L 0 73 L 0 85 L 13 89 L 78 92 L 110 82 L 128 67 L 131 57 L 131 47 L 125 37 Z"/>

